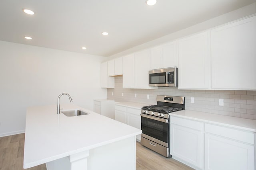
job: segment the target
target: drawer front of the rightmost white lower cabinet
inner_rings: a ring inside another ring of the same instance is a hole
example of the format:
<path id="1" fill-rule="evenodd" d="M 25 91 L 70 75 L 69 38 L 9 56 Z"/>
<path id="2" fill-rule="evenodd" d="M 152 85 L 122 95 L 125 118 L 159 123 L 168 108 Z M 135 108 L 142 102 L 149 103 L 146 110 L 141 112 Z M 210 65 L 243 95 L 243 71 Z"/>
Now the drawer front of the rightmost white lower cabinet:
<path id="1" fill-rule="evenodd" d="M 236 129 L 231 129 L 228 127 L 221 127 L 217 125 L 205 124 L 204 131 L 207 133 L 212 133 L 215 135 L 220 135 L 223 137 L 228 137 L 230 139 L 235 139 L 238 141 L 254 144 L 254 134 L 249 132 L 244 132 Z"/>

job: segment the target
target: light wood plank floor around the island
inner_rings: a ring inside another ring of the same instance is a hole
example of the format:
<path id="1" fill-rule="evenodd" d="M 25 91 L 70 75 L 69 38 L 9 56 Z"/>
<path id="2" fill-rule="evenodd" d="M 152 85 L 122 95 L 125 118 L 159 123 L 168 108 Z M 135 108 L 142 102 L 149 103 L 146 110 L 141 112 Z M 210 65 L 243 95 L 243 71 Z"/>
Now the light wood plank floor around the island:
<path id="1" fill-rule="evenodd" d="M 0 170 L 24 170 L 25 134 L 0 137 Z M 172 159 L 165 158 L 156 152 L 136 143 L 136 170 L 193 170 Z M 27 170 L 46 170 L 45 164 Z"/>

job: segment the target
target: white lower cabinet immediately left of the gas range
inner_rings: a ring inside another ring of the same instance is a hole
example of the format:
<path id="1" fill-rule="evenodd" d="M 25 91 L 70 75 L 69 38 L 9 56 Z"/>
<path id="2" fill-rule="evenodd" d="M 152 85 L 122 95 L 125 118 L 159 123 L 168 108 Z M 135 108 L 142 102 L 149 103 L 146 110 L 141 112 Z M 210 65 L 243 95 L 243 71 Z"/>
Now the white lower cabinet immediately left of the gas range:
<path id="1" fill-rule="evenodd" d="M 137 129 L 141 129 L 141 109 L 134 109 L 126 106 L 115 106 L 115 120 L 126 123 Z M 140 141 L 140 135 L 136 136 L 136 140 Z"/>

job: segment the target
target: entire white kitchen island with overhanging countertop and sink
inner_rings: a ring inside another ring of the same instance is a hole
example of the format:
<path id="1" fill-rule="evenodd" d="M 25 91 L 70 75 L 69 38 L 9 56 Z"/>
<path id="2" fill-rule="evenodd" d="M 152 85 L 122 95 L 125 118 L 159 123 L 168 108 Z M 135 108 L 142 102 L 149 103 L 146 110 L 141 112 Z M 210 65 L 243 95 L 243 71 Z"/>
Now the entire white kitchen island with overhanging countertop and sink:
<path id="1" fill-rule="evenodd" d="M 29 107 L 26 113 L 24 168 L 46 163 L 48 170 L 135 170 L 136 135 L 124 123 L 71 104 L 88 115 L 56 114 L 56 106 Z"/>

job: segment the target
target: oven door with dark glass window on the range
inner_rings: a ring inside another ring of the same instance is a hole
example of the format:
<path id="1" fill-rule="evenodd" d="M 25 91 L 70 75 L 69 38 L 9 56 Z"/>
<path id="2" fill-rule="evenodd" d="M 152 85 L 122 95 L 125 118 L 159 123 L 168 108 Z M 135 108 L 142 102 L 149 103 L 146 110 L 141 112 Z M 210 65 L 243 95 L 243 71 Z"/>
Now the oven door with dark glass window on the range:
<path id="1" fill-rule="evenodd" d="M 142 137 L 149 136 L 169 144 L 169 119 L 163 119 L 156 116 L 150 116 L 141 113 L 141 130 Z M 147 137 L 146 137 L 147 138 Z"/>

